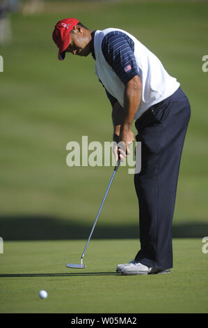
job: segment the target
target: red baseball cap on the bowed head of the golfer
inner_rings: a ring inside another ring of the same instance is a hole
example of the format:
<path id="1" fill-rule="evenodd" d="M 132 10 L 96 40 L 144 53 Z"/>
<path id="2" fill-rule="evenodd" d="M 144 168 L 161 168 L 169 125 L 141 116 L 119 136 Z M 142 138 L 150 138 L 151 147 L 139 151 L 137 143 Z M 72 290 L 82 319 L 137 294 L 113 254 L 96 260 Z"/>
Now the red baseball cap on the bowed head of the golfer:
<path id="1" fill-rule="evenodd" d="M 54 28 L 53 40 L 58 47 L 58 59 L 65 59 L 65 50 L 70 44 L 70 31 L 74 29 L 74 26 L 79 23 L 79 20 L 76 18 L 65 18 L 60 20 Z"/>

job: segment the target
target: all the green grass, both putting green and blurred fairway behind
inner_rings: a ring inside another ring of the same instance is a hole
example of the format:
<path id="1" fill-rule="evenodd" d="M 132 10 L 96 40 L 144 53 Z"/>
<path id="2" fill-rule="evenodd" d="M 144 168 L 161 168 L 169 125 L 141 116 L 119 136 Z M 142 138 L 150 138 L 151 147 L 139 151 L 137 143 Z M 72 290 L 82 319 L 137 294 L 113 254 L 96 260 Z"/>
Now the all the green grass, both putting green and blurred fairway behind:
<path id="1" fill-rule="evenodd" d="M 207 312 L 207 255 L 201 252 L 208 230 L 207 8 L 195 1 L 47 1 L 43 13 L 11 16 L 13 43 L 0 47 L 1 312 Z M 106 274 L 138 251 L 138 239 L 131 239 L 139 236 L 138 204 L 127 167 L 118 170 L 93 234 L 112 240 L 90 241 L 83 274 L 65 268 L 84 245 L 58 240 L 88 237 L 113 171 L 66 165 L 67 142 L 88 135 L 103 144 L 112 137 L 111 106 L 93 59 L 57 60 L 51 33 L 67 16 L 92 30 L 133 33 L 189 97 L 173 220 L 173 236 L 187 239 L 174 240 L 173 274 Z M 41 303 L 40 289 L 49 292 Z"/>

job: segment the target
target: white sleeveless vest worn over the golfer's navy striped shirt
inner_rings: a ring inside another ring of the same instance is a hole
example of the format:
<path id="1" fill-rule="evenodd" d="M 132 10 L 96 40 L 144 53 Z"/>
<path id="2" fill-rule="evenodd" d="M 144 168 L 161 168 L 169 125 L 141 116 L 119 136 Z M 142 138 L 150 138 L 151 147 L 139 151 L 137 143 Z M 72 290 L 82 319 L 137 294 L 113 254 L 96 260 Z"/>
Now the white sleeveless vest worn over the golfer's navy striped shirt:
<path id="1" fill-rule="evenodd" d="M 95 73 L 104 85 L 106 91 L 118 100 L 120 105 L 124 105 L 125 84 L 116 75 L 115 70 L 107 63 L 102 52 L 102 40 L 113 31 L 120 31 L 134 42 L 134 57 L 138 68 L 138 75 L 142 82 L 141 103 L 134 119 L 141 117 L 152 105 L 168 98 L 179 88 L 179 82 L 175 77 L 170 76 L 161 61 L 138 41 L 130 33 L 121 29 L 104 29 L 95 31 L 94 50 L 95 50 Z M 125 67 L 129 70 L 130 65 Z"/>

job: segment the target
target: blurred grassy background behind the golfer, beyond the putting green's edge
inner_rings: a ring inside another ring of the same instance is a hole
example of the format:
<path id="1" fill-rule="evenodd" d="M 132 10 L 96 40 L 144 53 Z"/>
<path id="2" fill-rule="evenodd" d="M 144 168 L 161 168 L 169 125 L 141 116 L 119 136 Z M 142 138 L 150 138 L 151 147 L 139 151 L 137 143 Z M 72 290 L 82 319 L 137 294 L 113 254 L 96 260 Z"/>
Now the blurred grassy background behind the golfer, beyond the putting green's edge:
<path id="1" fill-rule="evenodd" d="M 86 239 L 113 167 L 68 167 L 67 142 L 111 141 L 111 105 L 91 56 L 57 60 L 51 33 L 77 17 L 132 33 L 177 77 L 191 103 L 173 237 L 208 232 L 207 1 L 0 0 L 0 236 Z M 134 132 L 136 133 L 136 129 Z M 93 238 L 139 237 L 134 176 L 120 167 Z"/>

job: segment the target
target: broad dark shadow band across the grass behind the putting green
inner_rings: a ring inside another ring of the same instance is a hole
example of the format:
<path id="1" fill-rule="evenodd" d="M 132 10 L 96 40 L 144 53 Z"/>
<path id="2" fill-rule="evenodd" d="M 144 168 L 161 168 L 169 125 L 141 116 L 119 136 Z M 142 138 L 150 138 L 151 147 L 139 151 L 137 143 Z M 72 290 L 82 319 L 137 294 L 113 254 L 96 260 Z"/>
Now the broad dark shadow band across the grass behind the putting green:
<path id="1" fill-rule="evenodd" d="M 91 221 L 91 222 L 90 222 Z M 49 216 L 0 216 L 0 236 L 4 240 L 60 240 L 87 239 L 93 228 L 93 220 L 68 220 Z M 89 223 L 90 222 L 90 223 Z M 208 234 L 208 222 L 195 221 L 174 224 L 173 238 L 202 238 Z M 93 232 L 93 239 L 136 239 L 139 224 L 100 224 Z"/>

